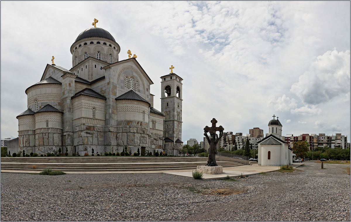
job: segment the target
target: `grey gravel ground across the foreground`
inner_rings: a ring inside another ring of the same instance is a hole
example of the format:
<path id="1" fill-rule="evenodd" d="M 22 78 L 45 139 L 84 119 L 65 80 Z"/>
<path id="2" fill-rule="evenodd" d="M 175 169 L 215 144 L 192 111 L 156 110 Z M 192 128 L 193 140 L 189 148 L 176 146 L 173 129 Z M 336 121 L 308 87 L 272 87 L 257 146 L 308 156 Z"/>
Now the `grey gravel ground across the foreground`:
<path id="1" fill-rule="evenodd" d="M 350 221 L 350 165 L 324 166 L 236 181 L 1 173 L 1 221 Z"/>

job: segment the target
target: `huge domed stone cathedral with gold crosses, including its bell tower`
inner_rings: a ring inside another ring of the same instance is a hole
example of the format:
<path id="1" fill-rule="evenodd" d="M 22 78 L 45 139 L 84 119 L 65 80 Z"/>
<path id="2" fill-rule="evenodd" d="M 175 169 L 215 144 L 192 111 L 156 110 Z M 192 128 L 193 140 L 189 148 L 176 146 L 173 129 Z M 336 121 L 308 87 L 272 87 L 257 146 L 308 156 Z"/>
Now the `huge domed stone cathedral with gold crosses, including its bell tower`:
<path id="1" fill-rule="evenodd" d="M 72 68 L 47 64 L 38 83 L 26 89 L 27 110 L 18 115 L 19 150 L 46 154 L 68 149 L 69 155 L 104 152 L 164 151 L 178 155 L 183 146 L 182 81 L 161 76 L 161 111 L 154 109 L 153 81 L 128 50 L 98 20 L 72 44 Z"/>

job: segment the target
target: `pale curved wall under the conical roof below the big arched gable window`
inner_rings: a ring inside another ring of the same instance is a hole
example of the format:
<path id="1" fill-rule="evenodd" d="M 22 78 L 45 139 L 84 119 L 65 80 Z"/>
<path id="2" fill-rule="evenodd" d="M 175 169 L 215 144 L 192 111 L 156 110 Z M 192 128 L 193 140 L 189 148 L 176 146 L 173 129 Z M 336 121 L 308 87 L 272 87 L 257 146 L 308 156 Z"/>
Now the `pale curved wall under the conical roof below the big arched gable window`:
<path id="1" fill-rule="evenodd" d="M 118 120 L 137 120 L 148 123 L 148 104 L 137 100 L 116 100 Z M 144 118 L 143 118 L 144 116 Z"/>

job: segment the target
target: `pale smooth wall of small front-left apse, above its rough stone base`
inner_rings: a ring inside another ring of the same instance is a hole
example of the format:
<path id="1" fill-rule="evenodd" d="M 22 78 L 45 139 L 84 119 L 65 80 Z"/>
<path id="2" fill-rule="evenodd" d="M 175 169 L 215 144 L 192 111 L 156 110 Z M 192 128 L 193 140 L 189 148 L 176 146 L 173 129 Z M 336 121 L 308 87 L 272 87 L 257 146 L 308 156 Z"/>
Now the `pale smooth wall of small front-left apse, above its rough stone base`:
<path id="1" fill-rule="evenodd" d="M 59 112 L 39 112 L 35 113 L 35 129 L 58 128 L 62 129 L 62 113 Z M 48 120 L 49 126 L 46 126 Z"/>

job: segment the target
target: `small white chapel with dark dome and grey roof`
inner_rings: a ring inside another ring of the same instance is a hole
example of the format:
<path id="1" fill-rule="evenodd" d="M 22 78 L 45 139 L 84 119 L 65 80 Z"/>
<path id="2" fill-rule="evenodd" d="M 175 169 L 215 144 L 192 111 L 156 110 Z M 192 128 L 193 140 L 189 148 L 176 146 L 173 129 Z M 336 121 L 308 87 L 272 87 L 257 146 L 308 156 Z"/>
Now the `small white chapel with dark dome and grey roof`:
<path id="1" fill-rule="evenodd" d="M 268 136 L 258 142 L 258 165 L 283 166 L 292 164 L 292 149 L 282 140 L 282 124 L 273 119 L 268 123 Z"/>

